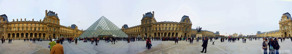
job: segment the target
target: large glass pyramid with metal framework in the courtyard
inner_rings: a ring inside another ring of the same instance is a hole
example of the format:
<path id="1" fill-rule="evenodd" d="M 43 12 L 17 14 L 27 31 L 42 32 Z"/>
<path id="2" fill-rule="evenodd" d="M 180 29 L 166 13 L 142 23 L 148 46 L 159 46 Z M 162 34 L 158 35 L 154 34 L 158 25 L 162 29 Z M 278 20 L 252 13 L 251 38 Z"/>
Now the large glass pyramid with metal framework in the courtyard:
<path id="1" fill-rule="evenodd" d="M 128 37 L 119 27 L 110 22 L 107 18 L 102 16 L 95 23 L 93 23 L 85 32 L 79 37 L 98 37 L 98 36 L 114 36 L 114 37 Z"/>

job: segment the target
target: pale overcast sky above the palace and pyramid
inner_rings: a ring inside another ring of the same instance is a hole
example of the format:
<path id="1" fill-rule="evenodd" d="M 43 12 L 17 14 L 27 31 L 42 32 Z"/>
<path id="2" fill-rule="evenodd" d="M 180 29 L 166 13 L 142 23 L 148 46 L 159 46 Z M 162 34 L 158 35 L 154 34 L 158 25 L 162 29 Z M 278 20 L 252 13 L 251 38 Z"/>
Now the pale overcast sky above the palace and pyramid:
<path id="1" fill-rule="evenodd" d="M 1 0 L 0 15 L 8 20 L 43 20 L 45 10 L 58 13 L 60 25 L 76 24 L 86 30 L 104 16 L 117 27 L 140 25 L 142 15 L 154 11 L 157 22 L 179 22 L 186 15 L 190 17 L 192 28 L 255 35 L 257 31 L 279 30 L 279 20 L 283 13 L 292 13 L 291 1 L 263 0 Z"/>

